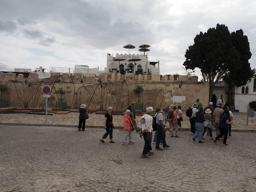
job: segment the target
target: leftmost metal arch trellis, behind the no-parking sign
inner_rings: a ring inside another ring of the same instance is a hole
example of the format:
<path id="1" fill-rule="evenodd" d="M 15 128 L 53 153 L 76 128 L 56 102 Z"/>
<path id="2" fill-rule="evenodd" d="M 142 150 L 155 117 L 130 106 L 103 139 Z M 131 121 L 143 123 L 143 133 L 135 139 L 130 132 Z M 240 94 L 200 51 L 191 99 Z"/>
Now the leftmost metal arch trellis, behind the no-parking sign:
<path id="1" fill-rule="evenodd" d="M 51 93 L 55 93 L 57 101 L 60 100 L 60 87 L 66 91 L 62 95 L 62 99 L 67 101 L 67 109 L 71 109 L 74 102 L 75 85 L 73 80 L 67 74 L 45 78 L 39 85 L 33 85 L 31 83 L 25 84 L 20 81 L 8 81 L 7 86 L 7 98 L 9 99 L 9 106 L 17 108 L 44 108 L 45 98 L 42 97 L 42 88 L 44 85 L 49 85 L 52 88 Z M 54 106 L 55 97 L 54 95 L 49 99 L 52 108 Z"/>

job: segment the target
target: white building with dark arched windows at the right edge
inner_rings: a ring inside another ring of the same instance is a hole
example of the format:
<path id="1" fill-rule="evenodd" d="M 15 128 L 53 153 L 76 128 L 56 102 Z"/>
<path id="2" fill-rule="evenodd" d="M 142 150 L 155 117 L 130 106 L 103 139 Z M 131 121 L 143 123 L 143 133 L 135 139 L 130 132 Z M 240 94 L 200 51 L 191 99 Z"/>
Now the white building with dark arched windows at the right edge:
<path id="1" fill-rule="evenodd" d="M 235 107 L 239 112 L 247 113 L 250 109 L 249 103 L 256 101 L 256 89 L 253 90 L 253 78 L 246 85 L 235 87 Z"/>

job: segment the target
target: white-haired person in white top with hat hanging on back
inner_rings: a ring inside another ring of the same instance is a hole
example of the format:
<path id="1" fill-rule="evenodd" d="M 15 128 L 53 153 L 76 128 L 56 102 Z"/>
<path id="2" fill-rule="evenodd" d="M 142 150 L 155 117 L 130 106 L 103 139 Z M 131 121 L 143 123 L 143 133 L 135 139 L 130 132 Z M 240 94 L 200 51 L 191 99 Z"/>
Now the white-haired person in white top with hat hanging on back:
<path id="1" fill-rule="evenodd" d="M 148 156 L 153 155 L 151 147 L 152 140 L 152 117 L 150 116 L 153 111 L 152 107 L 146 108 L 146 114 L 141 117 L 144 118 L 144 122 L 139 123 L 140 133 L 143 134 L 143 138 L 145 141 L 143 152 L 141 158 L 148 158 Z"/>

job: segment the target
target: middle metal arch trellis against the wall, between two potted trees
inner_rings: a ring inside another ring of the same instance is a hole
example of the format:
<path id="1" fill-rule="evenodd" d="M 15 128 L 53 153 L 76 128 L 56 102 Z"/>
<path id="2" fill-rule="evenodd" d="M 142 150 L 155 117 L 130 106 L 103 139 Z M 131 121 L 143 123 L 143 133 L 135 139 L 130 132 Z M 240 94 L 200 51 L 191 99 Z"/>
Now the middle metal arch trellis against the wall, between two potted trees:
<path id="1" fill-rule="evenodd" d="M 76 108 L 84 103 L 87 109 L 124 110 L 129 104 L 129 90 L 126 81 L 101 83 L 79 87 L 76 95 Z"/>

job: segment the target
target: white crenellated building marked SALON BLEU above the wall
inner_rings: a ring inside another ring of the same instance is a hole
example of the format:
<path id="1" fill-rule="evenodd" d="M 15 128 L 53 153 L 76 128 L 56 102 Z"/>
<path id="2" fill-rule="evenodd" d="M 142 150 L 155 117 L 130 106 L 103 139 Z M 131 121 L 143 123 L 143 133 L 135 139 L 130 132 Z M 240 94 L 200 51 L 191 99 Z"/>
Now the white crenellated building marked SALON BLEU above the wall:
<path id="1" fill-rule="evenodd" d="M 123 58 L 123 61 L 115 61 L 115 58 Z M 128 61 L 130 59 L 141 59 L 140 61 Z M 157 67 L 156 67 L 157 64 Z M 148 74 L 148 68 L 151 69 L 152 74 L 160 74 L 159 61 L 150 62 L 147 55 L 143 54 L 116 54 L 116 57 L 110 54 L 107 55 L 107 71 L 108 73 L 133 73 L 134 75 Z"/>

